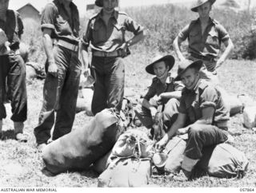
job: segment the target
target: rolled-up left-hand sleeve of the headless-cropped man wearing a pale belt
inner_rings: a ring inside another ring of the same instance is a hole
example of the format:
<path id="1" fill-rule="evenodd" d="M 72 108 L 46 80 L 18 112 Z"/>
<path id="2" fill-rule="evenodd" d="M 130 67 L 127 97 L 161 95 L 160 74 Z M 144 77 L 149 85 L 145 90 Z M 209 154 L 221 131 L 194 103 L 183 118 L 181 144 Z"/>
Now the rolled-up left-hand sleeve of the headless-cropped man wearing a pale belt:
<path id="1" fill-rule="evenodd" d="M 55 7 L 52 3 L 46 5 L 45 9 L 42 11 L 41 16 L 41 30 L 48 28 L 55 30 L 54 23 L 56 22 L 56 13 Z"/>

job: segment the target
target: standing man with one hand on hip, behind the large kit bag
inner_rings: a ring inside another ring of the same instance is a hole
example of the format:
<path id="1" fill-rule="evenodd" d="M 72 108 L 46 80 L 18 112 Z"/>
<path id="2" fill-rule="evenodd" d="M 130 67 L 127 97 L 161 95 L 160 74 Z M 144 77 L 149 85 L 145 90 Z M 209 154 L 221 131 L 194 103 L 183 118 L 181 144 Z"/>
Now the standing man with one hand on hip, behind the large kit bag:
<path id="1" fill-rule="evenodd" d="M 115 108 L 120 111 L 124 94 L 125 65 L 129 46 L 142 40 L 143 28 L 127 14 L 114 7 L 118 0 L 96 0 L 96 6 L 102 10 L 90 18 L 82 41 L 82 61 L 88 67 L 88 47 L 91 45 L 91 66 L 95 72 L 94 97 L 92 112 L 94 115 L 104 108 Z M 125 32 L 134 33 L 126 41 Z M 86 72 L 88 73 L 88 69 Z"/>

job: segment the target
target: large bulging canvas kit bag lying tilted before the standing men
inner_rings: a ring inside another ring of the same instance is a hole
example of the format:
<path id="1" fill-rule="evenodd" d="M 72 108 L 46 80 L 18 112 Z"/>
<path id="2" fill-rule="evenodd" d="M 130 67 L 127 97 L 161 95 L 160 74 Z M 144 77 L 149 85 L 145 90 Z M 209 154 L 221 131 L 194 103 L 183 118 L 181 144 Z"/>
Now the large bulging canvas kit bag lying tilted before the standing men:
<path id="1" fill-rule="evenodd" d="M 54 140 L 42 152 L 46 170 L 58 174 L 68 170 L 85 170 L 113 148 L 122 132 L 113 109 L 98 112 L 83 128 Z"/>

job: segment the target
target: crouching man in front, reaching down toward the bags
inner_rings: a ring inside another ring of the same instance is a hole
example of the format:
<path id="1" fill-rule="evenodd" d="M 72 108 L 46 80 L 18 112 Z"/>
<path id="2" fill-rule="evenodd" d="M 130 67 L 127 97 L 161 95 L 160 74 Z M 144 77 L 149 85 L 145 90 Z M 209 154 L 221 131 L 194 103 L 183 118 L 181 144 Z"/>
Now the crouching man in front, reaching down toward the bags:
<path id="1" fill-rule="evenodd" d="M 182 161 L 182 171 L 188 179 L 202 157 L 202 148 L 221 144 L 228 138 L 228 111 L 223 105 L 221 93 L 199 78 L 201 67 L 202 61 L 183 61 L 179 66 L 175 79 L 181 79 L 185 88 L 182 90 L 178 118 L 156 145 L 157 148 L 164 147 L 176 133 L 188 134 Z"/>

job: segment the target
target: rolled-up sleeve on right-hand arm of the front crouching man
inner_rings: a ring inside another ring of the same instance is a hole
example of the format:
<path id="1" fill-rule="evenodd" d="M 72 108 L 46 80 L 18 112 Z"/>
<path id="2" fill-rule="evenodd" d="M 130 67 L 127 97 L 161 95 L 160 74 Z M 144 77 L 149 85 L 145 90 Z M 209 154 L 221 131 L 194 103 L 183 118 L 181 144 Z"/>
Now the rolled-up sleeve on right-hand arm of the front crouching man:
<path id="1" fill-rule="evenodd" d="M 201 104 L 200 108 L 213 107 L 216 108 L 216 104 L 218 103 L 218 93 L 216 89 L 207 87 L 204 89 L 201 95 Z"/>

